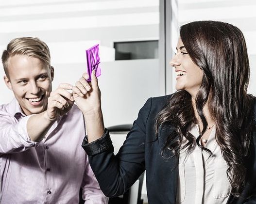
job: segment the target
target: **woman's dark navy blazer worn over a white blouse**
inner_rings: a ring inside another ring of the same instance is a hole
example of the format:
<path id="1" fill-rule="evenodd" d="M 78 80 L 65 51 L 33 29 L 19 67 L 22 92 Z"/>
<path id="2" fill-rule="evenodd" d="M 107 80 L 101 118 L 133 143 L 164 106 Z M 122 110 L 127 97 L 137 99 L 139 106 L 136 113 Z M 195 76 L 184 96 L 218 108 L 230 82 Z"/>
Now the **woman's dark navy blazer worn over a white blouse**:
<path id="1" fill-rule="evenodd" d="M 108 197 L 123 194 L 146 170 L 147 195 L 149 204 L 175 204 L 178 168 L 174 168 L 176 157 L 164 159 L 161 150 L 171 125 L 166 125 L 155 135 L 154 122 L 157 113 L 163 109 L 170 95 L 149 98 L 138 113 L 137 120 L 127 135 L 119 153 L 114 156 L 113 145 L 106 130 L 103 137 L 92 143 L 83 141 L 83 148 L 89 155 L 89 162 L 103 193 Z M 256 187 L 256 131 L 253 133 L 254 145 L 250 158 L 246 161 L 250 176 L 246 183 L 245 194 Z M 171 156 L 171 153 L 169 153 Z M 168 155 L 166 155 L 168 156 Z M 173 169 L 174 168 L 174 169 Z M 229 204 L 254 204 L 256 197 L 238 200 L 230 196 Z"/>

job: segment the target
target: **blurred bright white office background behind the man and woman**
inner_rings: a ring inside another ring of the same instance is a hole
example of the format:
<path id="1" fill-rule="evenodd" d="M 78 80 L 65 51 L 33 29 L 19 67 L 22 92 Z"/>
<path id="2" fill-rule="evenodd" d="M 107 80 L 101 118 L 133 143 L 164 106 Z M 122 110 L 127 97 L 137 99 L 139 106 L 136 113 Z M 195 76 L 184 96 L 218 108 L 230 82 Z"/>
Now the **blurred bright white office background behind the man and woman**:
<path id="1" fill-rule="evenodd" d="M 53 89 L 86 71 L 85 50 L 100 44 L 105 126 L 132 124 L 147 98 L 175 91 L 169 62 L 180 25 L 220 20 L 244 33 L 256 94 L 255 0 L 0 0 L 0 52 L 16 37 L 45 41 L 55 68 Z M 0 76 L 4 76 L 0 64 Z M 13 94 L 0 80 L 0 104 Z M 112 134 L 117 146 L 124 134 Z M 146 198 L 145 183 L 142 197 Z"/>

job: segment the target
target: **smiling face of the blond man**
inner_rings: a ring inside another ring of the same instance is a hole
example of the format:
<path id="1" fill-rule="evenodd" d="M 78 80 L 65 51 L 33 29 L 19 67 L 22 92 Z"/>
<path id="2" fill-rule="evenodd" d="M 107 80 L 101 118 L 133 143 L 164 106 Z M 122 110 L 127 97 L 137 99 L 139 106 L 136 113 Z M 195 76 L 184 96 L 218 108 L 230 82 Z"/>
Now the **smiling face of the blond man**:
<path id="1" fill-rule="evenodd" d="M 5 83 L 26 115 L 47 109 L 53 68 L 50 69 L 37 58 L 14 55 L 9 59 L 8 73 L 9 78 L 4 77 Z"/>

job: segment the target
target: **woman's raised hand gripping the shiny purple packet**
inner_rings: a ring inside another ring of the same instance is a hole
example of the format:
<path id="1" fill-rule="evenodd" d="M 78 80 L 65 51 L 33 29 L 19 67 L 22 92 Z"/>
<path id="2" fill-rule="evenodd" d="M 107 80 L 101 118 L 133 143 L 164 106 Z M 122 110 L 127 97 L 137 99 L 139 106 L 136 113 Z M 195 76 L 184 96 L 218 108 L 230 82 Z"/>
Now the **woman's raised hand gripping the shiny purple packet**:
<path id="1" fill-rule="evenodd" d="M 98 114 L 101 111 L 101 91 L 98 86 L 95 70 L 91 75 L 91 82 L 87 82 L 87 73 L 76 82 L 73 87 L 73 97 L 78 108 L 83 112 L 85 118 Z"/>

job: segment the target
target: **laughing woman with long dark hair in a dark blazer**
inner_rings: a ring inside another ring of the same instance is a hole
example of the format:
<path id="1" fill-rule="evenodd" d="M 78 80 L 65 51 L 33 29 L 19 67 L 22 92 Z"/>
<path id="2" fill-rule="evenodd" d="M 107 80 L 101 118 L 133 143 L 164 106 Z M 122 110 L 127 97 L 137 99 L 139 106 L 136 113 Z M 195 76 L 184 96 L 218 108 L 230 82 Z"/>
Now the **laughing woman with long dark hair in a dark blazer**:
<path id="1" fill-rule="evenodd" d="M 242 32 L 217 21 L 180 28 L 174 94 L 150 98 L 114 156 L 97 78 L 73 89 L 85 117 L 83 148 L 102 191 L 123 194 L 146 170 L 149 204 L 256 202 L 255 98 Z M 87 93 L 88 92 L 88 93 Z"/>

